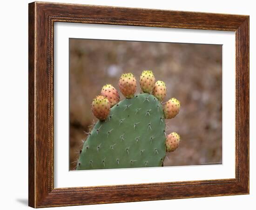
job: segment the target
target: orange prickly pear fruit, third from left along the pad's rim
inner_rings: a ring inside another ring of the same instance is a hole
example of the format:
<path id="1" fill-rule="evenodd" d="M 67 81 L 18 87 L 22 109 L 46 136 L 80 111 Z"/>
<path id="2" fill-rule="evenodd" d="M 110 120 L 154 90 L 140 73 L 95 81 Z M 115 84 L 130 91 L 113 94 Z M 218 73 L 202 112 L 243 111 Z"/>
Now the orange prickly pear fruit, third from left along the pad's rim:
<path id="1" fill-rule="evenodd" d="M 119 82 L 119 89 L 126 98 L 133 98 L 136 92 L 136 79 L 132 73 L 124 73 L 121 75 Z"/>

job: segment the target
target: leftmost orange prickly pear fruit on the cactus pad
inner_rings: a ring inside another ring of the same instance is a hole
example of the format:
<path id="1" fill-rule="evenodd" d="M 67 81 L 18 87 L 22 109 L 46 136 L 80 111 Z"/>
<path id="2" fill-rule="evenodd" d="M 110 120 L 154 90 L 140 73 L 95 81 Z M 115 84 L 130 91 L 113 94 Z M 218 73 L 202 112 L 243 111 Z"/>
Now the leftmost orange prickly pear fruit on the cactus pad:
<path id="1" fill-rule="evenodd" d="M 97 96 L 92 103 L 92 112 L 99 120 L 105 120 L 110 112 L 110 103 L 105 96 Z"/>

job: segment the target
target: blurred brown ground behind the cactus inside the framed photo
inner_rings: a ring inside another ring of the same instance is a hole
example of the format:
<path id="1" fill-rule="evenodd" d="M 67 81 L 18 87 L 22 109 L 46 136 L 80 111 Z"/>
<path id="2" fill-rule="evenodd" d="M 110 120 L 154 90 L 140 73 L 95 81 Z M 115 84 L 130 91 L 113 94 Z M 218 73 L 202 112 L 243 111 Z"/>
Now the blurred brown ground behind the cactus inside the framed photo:
<path id="1" fill-rule="evenodd" d="M 143 70 L 166 83 L 166 100 L 181 102 L 180 113 L 166 123 L 167 134 L 175 131 L 182 141 L 164 166 L 222 163 L 221 45 L 70 39 L 69 47 L 70 170 L 96 121 L 91 102 L 101 87 L 110 83 L 119 90 L 122 73 L 138 81 Z"/>

